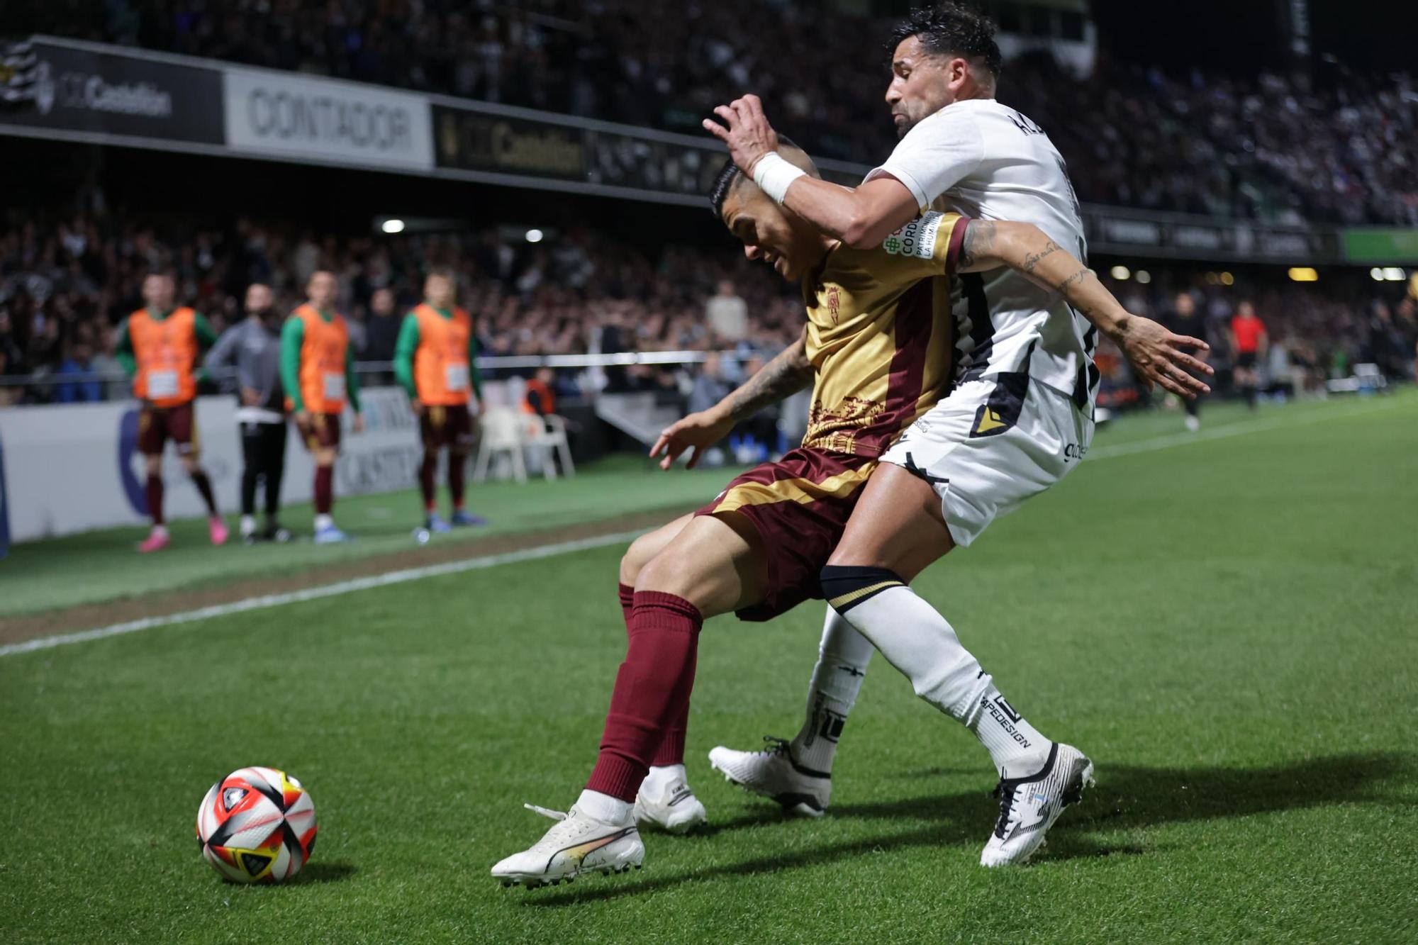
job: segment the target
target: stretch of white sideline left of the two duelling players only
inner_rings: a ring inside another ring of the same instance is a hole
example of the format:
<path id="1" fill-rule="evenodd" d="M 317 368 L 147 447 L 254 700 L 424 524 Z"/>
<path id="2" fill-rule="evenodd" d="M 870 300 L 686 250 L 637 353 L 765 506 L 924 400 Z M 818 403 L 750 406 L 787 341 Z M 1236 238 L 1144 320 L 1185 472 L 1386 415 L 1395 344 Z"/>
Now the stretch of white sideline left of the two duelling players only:
<path id="1" fill-rule="evenodd" d="M 166 627 L 174 623 L 194 623 L 197 620 L 207 620 L 208 617 L 225 617 L 228 614 L 242 613 L 247 610 L 279 607 L 282 604 L 299 603 L 302 600 L 319 600 L 320 597 L 336 597 L 339 595 L 347 595 L 356 590 L 367 590 L 370 587 L 386 587 L 389 585 L 401 585 L 408 580 L 420 580 L 423 578 L 437 578 L 440 575 L 457 575 L 465 570 L 482 570 L 484 568 L 496 568 L 498 565 L 512 565 L 519 560 L 536 560 L 539 558 L 569 555 L 571 552 L 586 551 L 588 548 L 604 548 L 605 545 L 627 542 L 634 538 L 638 538 L 640 535 L 644 535 L 645 531 L 647 529 L 640 529 L 634 532 L 615 532 L 614 535 L 598 535 L 596 538 L 580 538 L 574 542 L 539 545 L 536 548 L 525 548 L 522 551 L 505 552 L 501 555 L 465 558 L 462 560 L 450 560 L 440 565 L 424 565 L 423 568 L 406 568 L 403 570 L 384 572 L 383 575 L 370 575 L 369 578 L 354 578 L 352 580 L 340 580 L 333 585 L 306 587 L 305 590 L 292 590 L 284 595 L 262 595 L 259 597 L 245 597 L 242 600 L 233 600 L 230 603 L 213 604 L 210 607 L 199 607 L 197 610 L 183 610 L 182 613 L 169 613 L 160 617 L 143 617 L 142 620 L 115 623 L 106 627 L 98 627 L 95 630 L 62 633 L 54 637 L 37 637 L 34 640 L 26 640 L 24 643 L 11 643 L 9 646 L 0 647 L 0 657 L 14 656 L 18 653 L 31 653 L 34 650 L 48 650 L 51 647 L 62 647 L 69 643 L 102 640 L 105 637 L 116 637 L 123 633 L 138 633 L 139 630 Z"/>

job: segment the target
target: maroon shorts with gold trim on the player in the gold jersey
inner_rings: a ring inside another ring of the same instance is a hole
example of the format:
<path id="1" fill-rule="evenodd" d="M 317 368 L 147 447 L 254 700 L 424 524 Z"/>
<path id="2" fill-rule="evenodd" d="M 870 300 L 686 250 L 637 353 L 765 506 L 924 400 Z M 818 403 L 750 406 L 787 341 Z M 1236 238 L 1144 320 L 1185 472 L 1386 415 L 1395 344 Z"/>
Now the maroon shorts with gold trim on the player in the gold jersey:
<path id="1" fill-rule="evenodd" d="M 777 463 L 756 465 L 695 515 L 743 515 L 767 558 L 763 600 L 740 620 L 771 620 L 808 599 L 821 599 L 818 573 L 842 538 L 876 458 L 800 447 Z"/>

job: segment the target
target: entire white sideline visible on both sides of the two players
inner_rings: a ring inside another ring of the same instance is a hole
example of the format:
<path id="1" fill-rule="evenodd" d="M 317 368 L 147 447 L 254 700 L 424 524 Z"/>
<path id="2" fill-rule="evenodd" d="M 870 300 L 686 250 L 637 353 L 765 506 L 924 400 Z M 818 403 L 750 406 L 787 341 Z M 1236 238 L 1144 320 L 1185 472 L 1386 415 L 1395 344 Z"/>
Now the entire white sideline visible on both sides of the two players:
<path id="1" fill-rule="evenodd" d="M 1319 416 L 1309 416 L 1300 420 L 1285 421 L 1282 417 L 1272 420 L 1258 420 L 1258 421 L 1241 421 L 1231 423 L 1224 427 L 1215 427 L 1211 430 L 1202 430 L 1200 433 L 1174 433 L 1160 437 L 1149 437 L 1147 440 L 1136 440 L 1133 443 L 1117 443 L 1115 446 L 1103 446 L 1089 450 L 1089 460 L 1107 460 L 1119 455 L 1132 455 L 1134 453 L 1151 453 L 1153 450 L 1166 450 L 1174 446 L 1185 446 L 1188 443 L 1204 443 L 1207 440 L 1221 440 L 1225 437 L 1235 437 L 1244 433 L 1262 433 L 1265 430 L 1280 430 L 1285 427 L 1303 427 L 1312 423 L 1324 423 L 1326 420 L 1347 420 L 1350 417 L 1358 417 L 1368 413 L 1380 413 L 1383 410 L 1392 410 L 1395 407 L 1407 406 L 1404 402 L 1390 400 L 1381 404 L 1373 404 L 1363 410 L 1343 410 L 1334 413 L 1324 413 Z M 440 575 L 457 575 L 465 570 L 482 570 L 484 568 L 496 568 L 498 565 L 512 565 L 519 560 L 537 560 L 539 558 L 554 558 L 556 555 L 569 555 L 571 552 L 586 551 L 588 548 L 604 548 L 605 545 L 615 545 L 618 542 L 631 541 L 644 535 L 649 529 L 640 529 L 634 532 L 615 532 L 614 535 L 601 535 L 598 538 L 581 538 L 574 542 L 557 542 L 554 545 L 540 545 L 537 548 L 526 548 L 523 551 L 506 552 L 502 555 L 486 555 L 484 558 L 465 558 L 462 560 L 450 560 L 441 565 L 424 565 L 423 568 L 407 568 L 404 570 L 390 570 L 383 575 L 372 575 L 369 578 L 356 578 L 353 580 L 340 580 L 333 585 L 322 585 L 319 587 L 308 587 L 305 590 L 292 590 L 284 595 L 264 595 L 261 597 L 245 597 L 242 600 L 233 600 L 230 603 L 213 604 L 210 607 L 200 607 L 197 610 L 183 610 L 182 613 L 170 613 L 162 617 L 143 617 L 142 620 L 129 620 L 128 623 L 115 623 L 108 627 L 98 627 L 95 630 L 79 630 L 78 633 L 64 633 L 54 637 L 38 637 L 34 640 L 26 640 L 24 643 L 11 643 L 9 646 L 0 646 L 0 657 L 16 656 L 18 653 L 31 653 L 34 650 L 48 650 L 51 647 L 61 647 L 69 643 L 85 643 L 88 640 L 102 640 L 104 637 L 116 637 L 123 633 L 136 633 L 139 630 L 150 630 L 153 627 L 166 627 L 176 623 L 194 623 L 197 620 L 207 620 L 208 617 L 225 617 L 233 613 L 242 613 L 247 610 L 261 610 L 265 607 L 279 607 L 288 603 L 299 603 L 302 600 L 319 600 L 320 597 L 336 597 L 339 595 L 347 595 L 356 590 L 367 590 L 370 587 L 384 587 L 387 585 L 401 585 L 408 580 L 420 580 L 423 578 L 437 578 Z"/>

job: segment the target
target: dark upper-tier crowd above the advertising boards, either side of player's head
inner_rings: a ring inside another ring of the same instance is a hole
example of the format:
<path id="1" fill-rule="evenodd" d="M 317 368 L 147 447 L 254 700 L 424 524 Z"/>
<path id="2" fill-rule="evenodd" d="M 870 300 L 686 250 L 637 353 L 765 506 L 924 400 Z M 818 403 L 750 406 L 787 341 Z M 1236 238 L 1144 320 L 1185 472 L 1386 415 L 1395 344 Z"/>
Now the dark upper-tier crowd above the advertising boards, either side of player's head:
<path id="1" fill-rule="evenodd" d="M 879 163 L 888 21 L 786 0 L 111 0 L 43 4 L 65 35 L 696 131 L 753 91 L 815 153 Z M 744 28 L 752 23 L 753 28 Z M 1005 65 L 1000 99 L 1055 139 L 1086 201 L 1418 226 L 1418 89 L 1326 77 L 1064 74 Z"/>

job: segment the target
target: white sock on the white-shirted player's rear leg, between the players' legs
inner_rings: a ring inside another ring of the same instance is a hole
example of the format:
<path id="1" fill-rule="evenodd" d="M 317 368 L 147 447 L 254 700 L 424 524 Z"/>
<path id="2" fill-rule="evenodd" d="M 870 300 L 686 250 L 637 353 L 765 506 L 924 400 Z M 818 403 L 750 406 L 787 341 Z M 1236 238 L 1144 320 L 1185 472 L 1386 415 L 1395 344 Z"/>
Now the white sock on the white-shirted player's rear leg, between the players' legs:
<path id="1" fill-rule="evenodd" d="M 832 772 L 837 742 L 872 658 L 871 641 L 839 613 L 827 609 L 817 665 L 807 687 L 807 718 L 793 739 L 793 758 L 803 768 Z"/>

